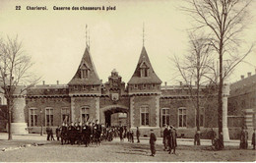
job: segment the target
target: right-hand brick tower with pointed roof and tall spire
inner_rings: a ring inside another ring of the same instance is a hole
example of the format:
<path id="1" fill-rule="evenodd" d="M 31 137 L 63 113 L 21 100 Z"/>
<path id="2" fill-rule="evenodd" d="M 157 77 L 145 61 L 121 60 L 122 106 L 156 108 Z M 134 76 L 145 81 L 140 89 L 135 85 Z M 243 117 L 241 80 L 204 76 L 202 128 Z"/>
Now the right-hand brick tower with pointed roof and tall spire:
<path id="1" fill-rule="evenodd" d="M 144 33 L 144 29 L 143 29 Z M 160 78 L 150 62 L 144 45 L 127 89 L 130 96 L 131 128 L 160 130 Z"/>

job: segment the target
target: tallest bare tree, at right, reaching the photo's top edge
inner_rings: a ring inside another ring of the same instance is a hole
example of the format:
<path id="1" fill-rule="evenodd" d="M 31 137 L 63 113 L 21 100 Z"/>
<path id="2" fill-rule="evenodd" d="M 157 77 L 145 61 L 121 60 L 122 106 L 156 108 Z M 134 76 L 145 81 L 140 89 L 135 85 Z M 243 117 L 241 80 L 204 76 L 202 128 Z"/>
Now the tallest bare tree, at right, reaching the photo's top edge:
<path id="1" fill-rule="evenodd" d="M 253 45 L 241 53 L 240 35 L 248 20 L 248 7 L 252 0 L 186 0 L 188 12 L 195 21 L 194 30 L 209 31 L 211 45 L 219 57 L 218 126 L 223 133 L 223 87 L 224 80 L 234 68 L 252 51 Z M 227 64 L 224 68 L 224 60 Z M 223 137 L 221 137 L 223 138 Z M 224 142 L 224 139 L 221 139 Z M 223 144 L 224 146 L 224 144 Z"/>

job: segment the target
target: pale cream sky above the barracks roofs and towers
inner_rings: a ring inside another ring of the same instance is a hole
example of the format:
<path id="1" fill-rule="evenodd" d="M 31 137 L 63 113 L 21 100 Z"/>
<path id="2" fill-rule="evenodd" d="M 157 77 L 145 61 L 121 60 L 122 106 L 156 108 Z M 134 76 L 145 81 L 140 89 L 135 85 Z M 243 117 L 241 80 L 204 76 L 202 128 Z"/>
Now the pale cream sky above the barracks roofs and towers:
<path id="1" fill-rule="evenodd" d="M 21 10 L 15 10 L 21 6 Z M 48 10 L 27 10 L 39 6 Z M 111 11 L 60 11 L 58 7 L 104 6 Z M 113 69 L 126 83 L 132 77 L 145 47 L 160 80 L 178 84 L 177 71 L 170 58 L 188 51 L 187 29 L 191 18 L 179 10 L 179 0 L 1 0 L 0 36 L 19 36 L 23 50 L 32 56 L 32 71 L 41 81 L 66 84 L 75 75 L 86 48 L 86 25 L 90 50 L 100 80 L 107 81 Z M 256 41 L 256 3 L 250 6 L 251 21 L 243 39 Z M 256 50 L 236 67 L 229 81 L 254 75 Z M 40 82 L 41 82 L 40 81 Z"/>

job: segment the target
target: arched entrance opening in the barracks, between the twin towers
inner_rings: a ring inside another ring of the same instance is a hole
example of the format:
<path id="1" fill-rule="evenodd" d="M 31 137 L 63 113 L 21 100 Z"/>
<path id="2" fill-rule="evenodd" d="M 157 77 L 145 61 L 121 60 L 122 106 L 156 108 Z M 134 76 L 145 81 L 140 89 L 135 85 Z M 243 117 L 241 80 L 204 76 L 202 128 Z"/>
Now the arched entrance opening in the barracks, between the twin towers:
<path id="1" fill-rule="evenodd" d="M 116 113 L 123 113 L 123 114 L 126 114 L 126 116 L 121 116 L 120 114 L 117 115 Z M 111 125 L 119 126 L 122 124 L 123 121 L 125 121 L 126 126 L 129 128 L 130 127 L 129 119 L 130 119 L 129 108 L 126 106 L 110 105 L 100 109 L 100 123 L 104 124 L 106 127 L 110 127 Z"/>

